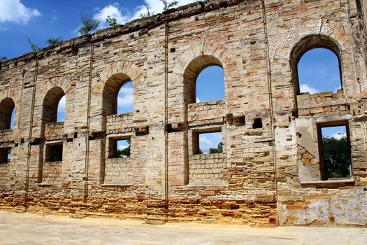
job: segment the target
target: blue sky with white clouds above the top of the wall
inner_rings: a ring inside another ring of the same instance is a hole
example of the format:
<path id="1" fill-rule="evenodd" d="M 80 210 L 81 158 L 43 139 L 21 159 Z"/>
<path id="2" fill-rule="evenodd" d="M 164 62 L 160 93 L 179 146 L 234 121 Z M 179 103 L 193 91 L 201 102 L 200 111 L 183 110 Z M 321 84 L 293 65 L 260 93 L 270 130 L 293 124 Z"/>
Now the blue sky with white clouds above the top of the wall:
<path id="1" fill-rule="evenodd" d="M 178 6 L 194 1 L 180 0 Z M 101 20 L 101 28 L 107 27 L 107 15 L 124 24 L 145 12 L 143 3 L 147 3 L 154 13 L 163 10 L 159 0 L 1 0 L 0 57 L 10 59 L 31 52 L 27 38 L 46 47 L 48 38 L 67 40 L 78 36 L 80 15 Z"/>

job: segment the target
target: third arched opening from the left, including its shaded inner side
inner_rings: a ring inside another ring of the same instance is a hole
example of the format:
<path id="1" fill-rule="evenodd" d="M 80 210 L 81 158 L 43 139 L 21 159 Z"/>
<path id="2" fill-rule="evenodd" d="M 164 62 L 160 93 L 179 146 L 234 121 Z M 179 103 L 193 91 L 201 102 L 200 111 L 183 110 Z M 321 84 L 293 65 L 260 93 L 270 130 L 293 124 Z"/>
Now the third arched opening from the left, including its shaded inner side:
<path id="1" fill-rule="evenodd" d="M 110 76 L 103 90 L 103 115 L 114 115 L 133 111 L 134 86 L 124 73 Z"/>

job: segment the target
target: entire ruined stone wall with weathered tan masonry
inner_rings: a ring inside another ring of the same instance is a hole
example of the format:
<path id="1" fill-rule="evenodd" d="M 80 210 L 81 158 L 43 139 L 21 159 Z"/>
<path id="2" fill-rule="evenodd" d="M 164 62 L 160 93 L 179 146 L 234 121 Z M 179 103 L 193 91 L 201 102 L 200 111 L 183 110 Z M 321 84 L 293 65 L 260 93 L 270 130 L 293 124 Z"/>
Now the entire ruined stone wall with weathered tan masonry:
<path id="1" fill-rule="evenodd" d="M 1 63 L 0 100 L 13 99 L 16 113 L 15 128 L 0 132 L 0 147 L 12 148 L 0 165 L 0 208 L 366 226 L 366 29 L 357 3 L 192 3 Z M 293 57 L 311 48 L 307 38 L 340 51 L 336 94 L 298 94 Z M 224 69 L 225 99 L 194 103 L 196 76 L 210 64 Z M 134 110 L 110 115 L 111 92 L 127 80 Z M 48 123 L 45 103 L 62 92 L 65 123 Z M 321 181 L 316 125 L 338 120 L 350 128 L 353 176 Z M 223 153 L 197 154 L 202 132 L 222 132 Z M 111 157 L 117 139 L 131 139 L 130 158 Z M 46 161 L 52 144 L 63 145 L 62 162 Z"/>

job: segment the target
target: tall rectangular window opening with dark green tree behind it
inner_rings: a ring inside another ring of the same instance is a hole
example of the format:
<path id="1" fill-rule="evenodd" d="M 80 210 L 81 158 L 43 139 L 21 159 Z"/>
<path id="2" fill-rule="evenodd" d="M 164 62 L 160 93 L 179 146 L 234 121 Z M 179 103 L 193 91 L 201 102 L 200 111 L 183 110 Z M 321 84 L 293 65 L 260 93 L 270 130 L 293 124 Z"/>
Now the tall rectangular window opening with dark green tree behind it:
<path id="1" fill-rule="evenodd" d="M 347 124 L 318 125 L 317 134 L 322 180 L 350 178 L 352 165 Z"/>

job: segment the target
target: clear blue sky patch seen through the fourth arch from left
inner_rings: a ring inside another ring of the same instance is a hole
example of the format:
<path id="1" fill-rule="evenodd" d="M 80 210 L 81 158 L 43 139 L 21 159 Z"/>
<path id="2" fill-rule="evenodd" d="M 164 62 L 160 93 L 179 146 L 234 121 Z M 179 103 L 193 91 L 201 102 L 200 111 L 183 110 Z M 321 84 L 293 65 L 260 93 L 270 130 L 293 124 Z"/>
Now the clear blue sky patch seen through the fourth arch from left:
<path id="1" fill-rule="evenodd" d="M 224 99 L 224 71 L 221 66 L 208 66 L 196 78 L 196 103 Z"/>

